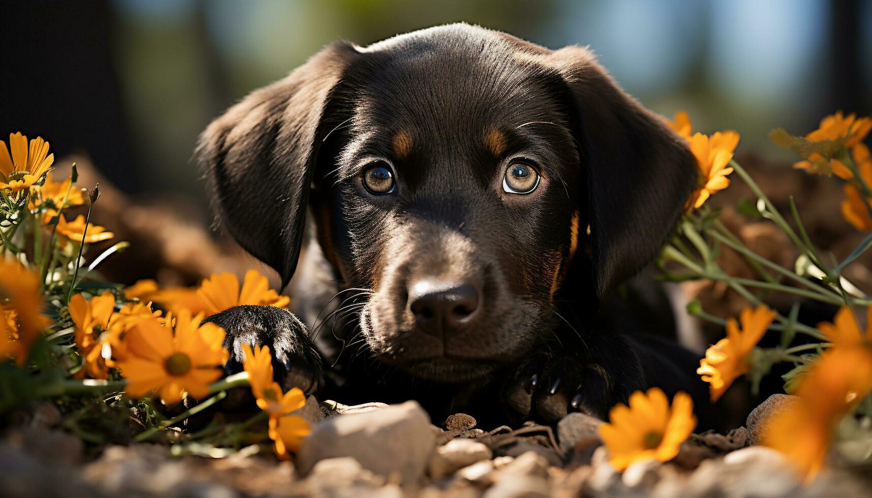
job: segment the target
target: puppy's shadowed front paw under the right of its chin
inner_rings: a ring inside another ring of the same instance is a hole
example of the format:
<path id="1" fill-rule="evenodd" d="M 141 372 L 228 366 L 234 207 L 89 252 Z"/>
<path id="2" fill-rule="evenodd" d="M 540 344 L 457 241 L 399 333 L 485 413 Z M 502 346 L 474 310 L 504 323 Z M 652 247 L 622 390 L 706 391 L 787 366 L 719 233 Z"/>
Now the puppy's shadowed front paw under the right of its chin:
<path id="1" fill-rule="evenodd" d="M 504 398 L 515 413 L 553 423 L 569 412 L 604 419 L 613 393 L 613 381 L 602 366 L 585 365 L 580 358 L 543 356 L 508 379 Z"/>

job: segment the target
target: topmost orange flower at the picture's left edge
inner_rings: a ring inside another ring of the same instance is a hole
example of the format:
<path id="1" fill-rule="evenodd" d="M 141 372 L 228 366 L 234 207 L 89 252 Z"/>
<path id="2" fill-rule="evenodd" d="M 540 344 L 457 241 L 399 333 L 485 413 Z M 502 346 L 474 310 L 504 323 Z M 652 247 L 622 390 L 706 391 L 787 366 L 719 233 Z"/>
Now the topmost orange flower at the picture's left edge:
<path id="1" fill-rule="evenodd" d="M 31 188 L 43 174 L 49 171 L 54 162 L 54 154 L 49 154 L 49 143 L 42 137 L 31 140 L 31 148 L 27 148 L 27 137 L 18 133 L 10 133 L 9 147 L 0 140 L 0 189 L 8 188 L 13 193 Z"/>

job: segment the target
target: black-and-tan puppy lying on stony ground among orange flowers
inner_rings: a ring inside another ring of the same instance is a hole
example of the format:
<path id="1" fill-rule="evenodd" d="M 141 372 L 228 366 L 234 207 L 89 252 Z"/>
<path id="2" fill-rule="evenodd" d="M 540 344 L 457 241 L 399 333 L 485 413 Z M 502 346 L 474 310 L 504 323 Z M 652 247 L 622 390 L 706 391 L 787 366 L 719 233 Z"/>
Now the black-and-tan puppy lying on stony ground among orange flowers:
<path id="1" fill-rule="evenodd" d="M 658 385 L 705 424 L 697 358 L 593 326 L 697 173 L 590 51 L 467 24 L 332 44 L 216 119 L 199 156 L 243 248 L 287 284 L 309 212 L 340 287 L 318 325 L 329 358 L 290 312 L 243 306 L 209 318 L 235 362 L 268 344 L 309 391 L 418 399 L 433 420 L 605 417 Z"/>

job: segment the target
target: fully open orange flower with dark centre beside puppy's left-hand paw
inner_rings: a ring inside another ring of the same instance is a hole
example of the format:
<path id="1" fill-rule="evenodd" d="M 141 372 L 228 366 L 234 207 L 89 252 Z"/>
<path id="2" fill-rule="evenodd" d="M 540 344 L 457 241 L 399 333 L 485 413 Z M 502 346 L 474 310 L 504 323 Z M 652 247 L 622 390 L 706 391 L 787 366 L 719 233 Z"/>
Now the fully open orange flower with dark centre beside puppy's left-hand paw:
<path id="1" fill-rule="evenodd" d="M 224 330 L 215 324 L 200 325 L 202 319 L 202 314 L 192 317 L 182 310 L 174 328 L 154 317 L 131 327 L 124 338 L 127 358 L 118 362 L 122 376 L 130 380 L 131 396 L 141 398 L 157 391 L 172 405 L 185 393 L 194 399 L 208 395 L 209 384 L 221 378 L 221 365 L 229 355 L 221 347 Z"/>

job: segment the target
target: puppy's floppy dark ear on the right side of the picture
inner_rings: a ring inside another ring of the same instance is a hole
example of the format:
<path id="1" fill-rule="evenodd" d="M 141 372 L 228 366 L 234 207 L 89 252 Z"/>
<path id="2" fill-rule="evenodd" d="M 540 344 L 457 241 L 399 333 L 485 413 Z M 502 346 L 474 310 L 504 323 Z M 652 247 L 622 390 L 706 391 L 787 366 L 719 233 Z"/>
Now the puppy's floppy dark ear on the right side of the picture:
<path id="1" fill-rule="evenodd" d="M 593 283 L 602 297 L 663 246 L 696 184 L 696 160 L 684 140 L 623 92 L 590 51 L 569 46 L 547 60 L 575 111 Z"/>

